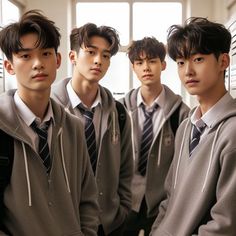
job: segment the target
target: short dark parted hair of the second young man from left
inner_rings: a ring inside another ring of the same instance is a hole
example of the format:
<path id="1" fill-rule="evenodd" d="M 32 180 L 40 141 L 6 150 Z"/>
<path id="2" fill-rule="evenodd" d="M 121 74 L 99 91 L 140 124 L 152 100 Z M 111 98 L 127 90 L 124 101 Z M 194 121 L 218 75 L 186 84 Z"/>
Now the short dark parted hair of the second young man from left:
<path id="1" fill-rule="evenodd" d="M 71 50 L 78 52 L 82 45 L 88 47 L 90 39 L 93 36 L 99 36 L 108 41 L 110 44 L 111 55 L 115 55 L 120 46 L 120 39 L 117 31 L 109 26 L 100 26 L 93 23 L 87 23 L 80 28 L 74 28 L 70 34 Z"/>

